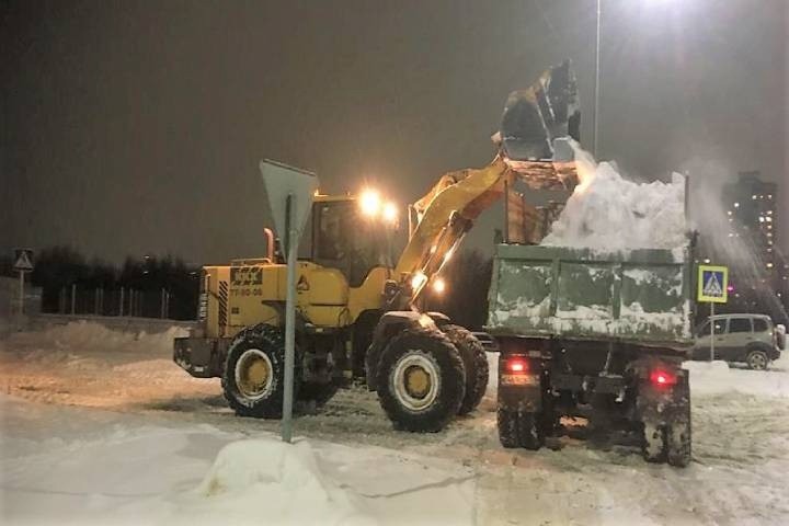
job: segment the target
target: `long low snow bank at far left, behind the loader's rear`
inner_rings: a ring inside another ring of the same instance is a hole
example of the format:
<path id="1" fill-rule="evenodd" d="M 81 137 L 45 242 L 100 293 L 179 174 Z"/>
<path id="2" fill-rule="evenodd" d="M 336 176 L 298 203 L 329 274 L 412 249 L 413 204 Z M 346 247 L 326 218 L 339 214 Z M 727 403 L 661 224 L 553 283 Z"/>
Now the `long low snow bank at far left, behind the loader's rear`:
<path id="1" fill-rule="evenodd" d="M 65 352 L 170 352 L 174 338 L 185 336 L 187 331 L 171 327 L 162 332 L 123 332 L 107 329 L 92 321 L 72 321 L 43 331 L 11 334 L 5 343 L 21 348 L 57 348 Z"/>

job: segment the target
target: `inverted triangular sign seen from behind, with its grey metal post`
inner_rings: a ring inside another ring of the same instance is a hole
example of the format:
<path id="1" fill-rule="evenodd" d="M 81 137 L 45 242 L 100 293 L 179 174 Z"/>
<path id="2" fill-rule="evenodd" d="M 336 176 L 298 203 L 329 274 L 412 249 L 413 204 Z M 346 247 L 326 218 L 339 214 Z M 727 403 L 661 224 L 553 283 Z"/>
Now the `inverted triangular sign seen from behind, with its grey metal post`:
<path id="1" fill-rule="evenodd" d="M 263 185 L 276 231 L 285 241 L 287 255 L 287 290 L 285 300 L 285 371 L 283 395 L 282 438 L 293 439 L 294 368 L 296 365 L 296 275 L 298 242 L 307 217 L 312 195 L 318 188 L 313 173 L 288 167 L 276 161 L 260 163 Z"/>

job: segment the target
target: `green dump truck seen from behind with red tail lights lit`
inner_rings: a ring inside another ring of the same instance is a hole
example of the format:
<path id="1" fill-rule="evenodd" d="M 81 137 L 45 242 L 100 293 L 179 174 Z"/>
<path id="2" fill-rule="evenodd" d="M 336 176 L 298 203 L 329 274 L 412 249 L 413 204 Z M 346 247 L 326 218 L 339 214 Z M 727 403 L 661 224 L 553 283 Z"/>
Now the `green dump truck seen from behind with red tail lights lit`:
<path id="1" fill-rule="evenodd" d="M 649 461 L 687 466 L 690 252 L 498 245 L 487 330 L 504 447 L 538 449 L 562 415 L 583 416 L 640 434 Z"/>

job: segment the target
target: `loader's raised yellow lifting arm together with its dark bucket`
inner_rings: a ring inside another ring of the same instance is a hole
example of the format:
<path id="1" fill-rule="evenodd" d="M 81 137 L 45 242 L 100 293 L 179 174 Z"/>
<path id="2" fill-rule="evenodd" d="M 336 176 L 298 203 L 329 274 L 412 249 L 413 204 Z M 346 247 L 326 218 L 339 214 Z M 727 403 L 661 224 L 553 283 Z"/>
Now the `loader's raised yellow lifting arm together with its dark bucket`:
<path id="1" fill-rule="evenodd" d="M 474 219 L 516 180 L 530 188 L 572 188 L 578 176 L 571 140 L 580 112 L 570 62 L 544 72 L 528 90 L 510 94 L 499 152 L 482 169 L 449 172 L 411 206 L 409 242 L 386 290 L 391 310 L 414 308 L 424 287 L 449 261 Z"/>

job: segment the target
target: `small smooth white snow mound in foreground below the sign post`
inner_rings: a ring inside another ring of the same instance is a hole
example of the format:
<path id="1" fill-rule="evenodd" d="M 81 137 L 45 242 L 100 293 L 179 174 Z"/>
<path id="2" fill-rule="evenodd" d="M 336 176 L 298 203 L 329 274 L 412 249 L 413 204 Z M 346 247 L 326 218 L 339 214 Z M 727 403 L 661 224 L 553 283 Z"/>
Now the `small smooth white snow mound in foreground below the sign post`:
<path id="1" fill-rule="evenodd" d="M 225 446 L 190 507 L 227 524 L 376 524 L 325 478 L 307 442 L 240 441 Z M 207 517 L 209 518 L 209 517 Z M 213 519 L 208 519 L 213 524 Z"/>

